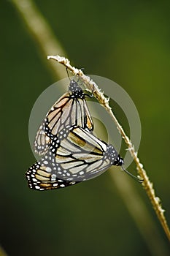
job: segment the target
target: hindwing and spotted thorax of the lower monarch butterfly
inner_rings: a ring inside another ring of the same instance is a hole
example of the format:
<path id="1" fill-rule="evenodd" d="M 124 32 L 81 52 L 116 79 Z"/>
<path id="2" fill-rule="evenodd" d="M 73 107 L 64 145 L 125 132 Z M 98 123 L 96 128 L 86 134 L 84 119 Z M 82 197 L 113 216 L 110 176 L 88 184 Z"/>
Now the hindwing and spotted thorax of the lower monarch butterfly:
<path id="1" fill-rule="evenodd" d="M 69 134 L 62 133 L 59 144 L 50 146 L 55 155 L 56 175 L 66 181 L 85 181 L 103 173 L 114 165 L 117 151 L 99 140 L 88 130 L 76 127 Z M 59 142 L 59 140 L 57 141 Z"/>

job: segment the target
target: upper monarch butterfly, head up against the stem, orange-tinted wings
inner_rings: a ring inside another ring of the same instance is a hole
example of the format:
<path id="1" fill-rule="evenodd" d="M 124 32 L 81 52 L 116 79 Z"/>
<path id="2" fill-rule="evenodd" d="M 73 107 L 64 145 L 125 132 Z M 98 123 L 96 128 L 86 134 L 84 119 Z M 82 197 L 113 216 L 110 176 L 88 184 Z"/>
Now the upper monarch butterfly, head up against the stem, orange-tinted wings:
<path id="1" fill-rule="evenodd" d="M 93 121 L 85 101 L 87 95 L 75 80 L 70 81 L 69 91 L 55 102 L 36 133 L 34 141 L 36 153 L 44 155 L 51 140 L 67 125 L 77 125 L 89 131 L 93 130 Z"/>

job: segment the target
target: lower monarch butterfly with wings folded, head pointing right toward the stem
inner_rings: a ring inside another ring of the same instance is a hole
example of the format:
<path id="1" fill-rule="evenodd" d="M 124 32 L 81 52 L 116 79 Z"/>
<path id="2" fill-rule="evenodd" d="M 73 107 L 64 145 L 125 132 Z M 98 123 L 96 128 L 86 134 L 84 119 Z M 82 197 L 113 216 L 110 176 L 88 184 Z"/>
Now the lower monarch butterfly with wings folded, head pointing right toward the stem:
<path id="1" fill-rule="evenodd" d="M 53 139 L 47 154 L 29 167 L 26 178 L 31 189 L 57 189 L 95 178 L 112 165 L 123 165 L 114 146 L 82 127 L 66 127 Z"/>

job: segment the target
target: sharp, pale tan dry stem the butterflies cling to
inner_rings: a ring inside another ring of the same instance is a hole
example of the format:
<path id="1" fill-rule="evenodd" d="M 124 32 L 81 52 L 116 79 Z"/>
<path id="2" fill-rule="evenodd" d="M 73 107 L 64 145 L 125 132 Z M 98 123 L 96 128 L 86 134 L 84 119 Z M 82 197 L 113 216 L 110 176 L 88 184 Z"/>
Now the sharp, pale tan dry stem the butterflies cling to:
<path id="1" fill-rule="evenodd" d="M 170 241 L 170 230 L 169 230 L 169 226 L 167 225 L 166 218 L 164 216 L 165 210 L 161 206 L 161 200 L 159 199 L 159 197 L 155 195 L 155 190 L 153 189 L 152 183 L 150 182 L 150 179 L 147 176 L 147 173 L 144 170 L 142 163 L 139 161 L 139 157 L 137 157 L 137 152 L 134 149 L 134 145 L 131 143 L 131 140 L 128 138 L 128 136 L 125 135 L 123 127 L 119 124 L 119 122 L 117 121 L 117 118 L 112 112 L 112 109 L 109 107 L 109 100 L 106 97 L 104 97 L 104 94 L 98 88 L 96 83 L 93 80 L 90 80 L 90 78 L 82 72 L 82 69 L 77 69 L 75 67 L 72 67 L 68 59 L 61 56 L 47 56 L 47 59 L 53 59 L 55 61 L 58 61 L 58 63 L 63 64 L 74 75 L 79 75 L 80 79 L 85 84 L 86 88 L 90 91 L 93 91 L 93 95 L 96 97 L 96 99 L 98 99 L 98 102 L 107 110 L 107 112 L 109 113 L 109 116 L 111 116 L 112 120 L 115 122 L 115 125 L 118 131 L 120 132 L 120 135 L 125 140 L 125 143 L 128 146 L 128 150 L 131 153 L 131 157 L 133 157 L 134 162 L 136 163 L 136 169 L 138 170 L 139 176 L 144 180 L 142 182 L 142 185 L 146 190 L 147 195 L 150 198 L 150 201 L 152 203 L 152 206 L 157 214 L 157 217 L 161 222 L 163 230 L 165 231 L 166 236 L 169 238 L 169 241 Z"/>

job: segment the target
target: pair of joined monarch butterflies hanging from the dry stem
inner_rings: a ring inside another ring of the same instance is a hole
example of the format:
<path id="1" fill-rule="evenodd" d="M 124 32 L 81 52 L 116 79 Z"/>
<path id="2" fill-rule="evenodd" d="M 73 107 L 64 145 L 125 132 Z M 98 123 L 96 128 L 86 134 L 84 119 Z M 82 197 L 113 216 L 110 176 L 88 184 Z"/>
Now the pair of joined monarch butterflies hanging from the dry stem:
<path id="1" fill-rule="evenodd" d="M 34 150 L 43 157 L 26 172 L 31 189 L 68 187 L 95 178 L 112 165 L 123 165 L 115 148 L 93 135 L 86 95 L 71 80 L 69 91 L 55 102 L 42 121 Z"/>

